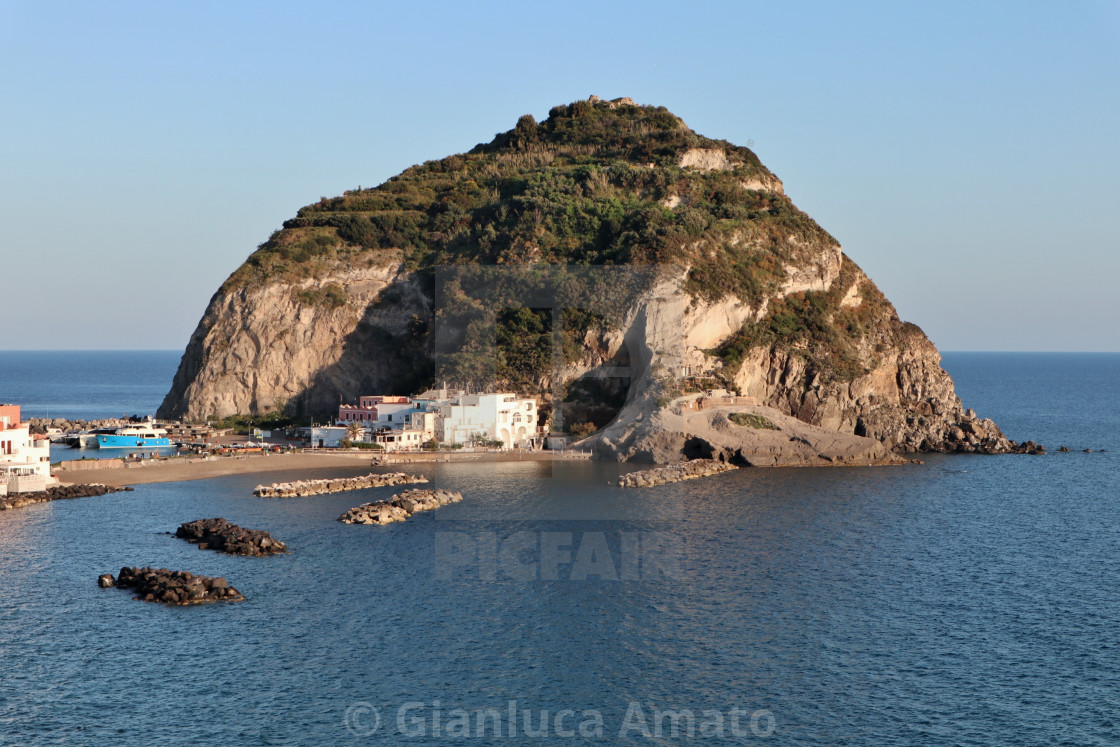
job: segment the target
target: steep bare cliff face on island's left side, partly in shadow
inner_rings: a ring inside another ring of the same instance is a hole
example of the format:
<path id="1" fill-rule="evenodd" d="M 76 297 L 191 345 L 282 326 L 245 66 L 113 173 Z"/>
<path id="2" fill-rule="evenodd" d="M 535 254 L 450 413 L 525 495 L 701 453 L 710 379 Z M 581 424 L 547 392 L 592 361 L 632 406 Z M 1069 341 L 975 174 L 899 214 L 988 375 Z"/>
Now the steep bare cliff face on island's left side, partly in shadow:
<path id="1" fill-rule="evenodd" d="M 324 289 L 334 288 L 345 298 L 326 297 Z M 408 385 L 414 362 L 404 355 L 408 344 L 394 340 L 430 314 L 399 261 L 338 263 L 298 282 L 223 288 L 190 337 L 159 417 L 316 413 L 337 410 L 343 393 Z"/>

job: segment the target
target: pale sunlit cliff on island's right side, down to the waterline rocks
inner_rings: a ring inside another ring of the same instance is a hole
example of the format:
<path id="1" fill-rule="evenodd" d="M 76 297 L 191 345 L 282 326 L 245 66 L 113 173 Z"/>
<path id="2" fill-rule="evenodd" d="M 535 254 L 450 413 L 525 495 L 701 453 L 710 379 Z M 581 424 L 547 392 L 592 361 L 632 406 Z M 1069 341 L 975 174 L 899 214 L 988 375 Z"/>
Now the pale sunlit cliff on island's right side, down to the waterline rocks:
<path id="1" fill-rule="evenodd" d="M 864 306 L 865 295 L 878 293 L 846 256 L 837 254 L 834 262 L 828 258 L 819 255 L 819 291 L 839 295 L 846 308 L 855 310 Z M 836 288 L 837 283 L 850 284 Z M 679 379 L 674 372 L 710 367 L 710 351 L 732 337 L 740 325 L 757 325 L 766 318 L 766 307 L 788 296 L 775 296 L 759 307 L 735 301 L 698 305 L 679 286 L 679 280 L 663 283 L 643 299 L 634 315 L 627 330 L 627 346 L 635 354 L 632 398 L 613 423 L 586 442 L 605 458 L 883 464 L 884 454 L 868 442 L 903 454 L 1037 449 L 1030 442 L 1007 439 L 995 422 L 964 410 L 952 379 L 940 365 L 937 349 L 921 329 L 902 323 L 881 297 L 868 302 L 875 310 L 867 328 L 842 340 L 852 358 L 840 375 L 812 354 L 811 342 L 778 339 L 746 351 L 729 376 L 735 391 L 728 394 L 734 400 L 682 393 L 674 389 Z M 678 396 L 666 396 L 666 392 Z M 725 401 L 739 404 L 728 408 Z M 726 422 L 718 426 L 728 409 L 753 412 L 757 408 L 815 428 L 791 428 L 773 415 L 772 421 L 782 423 L 780 436 L 728 428 Z M 823 433 L 850 438 L 839 442 L 822 438 Z"/>

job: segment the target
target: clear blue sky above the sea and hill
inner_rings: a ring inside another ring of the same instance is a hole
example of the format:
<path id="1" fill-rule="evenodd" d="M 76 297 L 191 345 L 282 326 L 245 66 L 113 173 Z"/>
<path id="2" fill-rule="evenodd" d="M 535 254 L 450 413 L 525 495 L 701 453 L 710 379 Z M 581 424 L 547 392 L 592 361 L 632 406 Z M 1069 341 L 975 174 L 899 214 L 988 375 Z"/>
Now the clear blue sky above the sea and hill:
<path id="1" fill-rule="evenodd" d="M 942 349 L 1120 351 L 1117 2 L 0 0 L 0 348 L 183 348 L 297 208 L 597 94 L 754 149 Z"/>

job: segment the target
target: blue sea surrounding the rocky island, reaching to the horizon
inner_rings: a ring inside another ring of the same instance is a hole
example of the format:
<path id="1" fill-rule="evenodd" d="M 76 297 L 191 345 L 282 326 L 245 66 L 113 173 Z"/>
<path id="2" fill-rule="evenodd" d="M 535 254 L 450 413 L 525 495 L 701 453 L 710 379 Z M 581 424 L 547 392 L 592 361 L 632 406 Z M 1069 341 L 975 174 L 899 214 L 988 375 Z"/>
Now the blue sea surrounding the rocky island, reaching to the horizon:
<path id="1" fill-rule="evenodd" d="M 4 353 L 0 400 L 143 414 L 176 363 Z M 943 365 L 1048 454 L 642 491 L 613 464 L 408 465 L 464 501 L 389 526 L 336 520 L 391 487 L 252 496 L 306 474 L 0 512 L 0 745 L 1120 744 L 1120 355 Z M 212 516 L 291 552 L 171 534 Z M 245 600 L 97 587 L 144 564 Z"/>

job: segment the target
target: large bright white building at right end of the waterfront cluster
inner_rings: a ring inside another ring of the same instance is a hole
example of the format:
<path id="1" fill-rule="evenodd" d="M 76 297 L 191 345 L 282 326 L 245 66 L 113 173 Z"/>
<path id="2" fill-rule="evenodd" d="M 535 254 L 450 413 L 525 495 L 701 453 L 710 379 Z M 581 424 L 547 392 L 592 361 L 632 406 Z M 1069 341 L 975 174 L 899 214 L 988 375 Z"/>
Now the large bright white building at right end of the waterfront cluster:
<path id="1" fill-rule="evenodd" d="M 444 443 L 469 443 L 482 433 L 505 448 L 525 446 L 536 435 L 536 400 L 516 394 L 464 394 L 439 408 L 436 438 Z"/>

